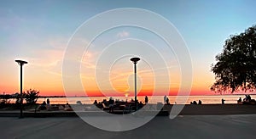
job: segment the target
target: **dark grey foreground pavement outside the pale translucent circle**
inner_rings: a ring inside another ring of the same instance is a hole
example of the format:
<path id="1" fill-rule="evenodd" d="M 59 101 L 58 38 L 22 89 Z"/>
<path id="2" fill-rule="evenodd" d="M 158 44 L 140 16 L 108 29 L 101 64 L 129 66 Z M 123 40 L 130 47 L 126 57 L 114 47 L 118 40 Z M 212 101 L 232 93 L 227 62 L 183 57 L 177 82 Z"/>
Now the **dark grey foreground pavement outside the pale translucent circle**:
<path id="1" fill-rule="evenodd" d="M 100 117 L 98 117 L 100 118 Z M 0 138 L 254 138 L 256 114 L 158 116 L 135 130 L 102 131 L 79 117 L 0 118 Z"/>

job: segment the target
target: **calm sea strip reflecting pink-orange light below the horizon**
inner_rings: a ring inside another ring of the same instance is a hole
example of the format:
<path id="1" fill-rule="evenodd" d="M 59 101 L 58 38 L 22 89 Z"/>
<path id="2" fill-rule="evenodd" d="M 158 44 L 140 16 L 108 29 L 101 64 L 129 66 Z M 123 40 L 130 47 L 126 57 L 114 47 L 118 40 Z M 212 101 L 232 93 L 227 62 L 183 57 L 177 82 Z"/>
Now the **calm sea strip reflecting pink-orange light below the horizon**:
<path id="1" fill-rule="evenodd" d="M 221 103 L 221 99 L 224 98 L 225 103 L 236 103 L 237 99 L 241 97 L 243 99 L 245 95 L 216 95 L 216 96 L 168 96 L 170 103 L 177 103 L 182 104 L 186 103 L 189 104 L 194 100 L 198 103 L 198 100 L 201 100 L 203 104 L 218 104 Z M 251 95 L 252 99 L 256 99 L 256 95 Z M 109 99 L 109 97 L 45 97 L 45 98 L 38 98 L 38 103 L 43 103 L 46 99 L 49 98 L 50 103 L 52 104 L 76 104 L 78 101 L 84 104 L 93 103 L 95 100 L 97 102 L 102 102 L 103 99 Z M 134 97 L 113 97 L 113 99 L 119 99 L 125 101 L 131 101 L 131 98 Z M 137 97 L 138 101 L 144 102 L 144 97 Z M 26 102 L 26 101 L 24 101 Z M 163 96 L 156 96 L 156 97 L 148 97 L 148 103 L 164 103 Z"/>

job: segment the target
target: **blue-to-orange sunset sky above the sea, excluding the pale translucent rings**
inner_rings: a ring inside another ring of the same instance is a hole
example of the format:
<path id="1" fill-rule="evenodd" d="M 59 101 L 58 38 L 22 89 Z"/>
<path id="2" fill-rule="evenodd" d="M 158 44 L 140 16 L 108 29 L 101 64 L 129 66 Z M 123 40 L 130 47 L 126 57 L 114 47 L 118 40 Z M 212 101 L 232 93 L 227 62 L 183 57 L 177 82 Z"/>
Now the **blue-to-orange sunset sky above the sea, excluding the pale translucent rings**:
<path id="1" fill-rule="evenodd" d="M 190 94 L 215 94 L 209 89 L 214 82 L 214 75 L 210 71 L 211 64 L 215 62 L 215 56 L 221 53 L 224 41 L 230 35 L 239 34 L 256 24 L 255 6 L 254 0 L 166 0 L 154 3 L 146 0 L 117 2 L 3 0 L 0 4 L 0 93 L 12 94 L 20 91 L 20 68 L 15 63 L 15 59 L 26 59 L 28 64 L 24 66 L 25 90 L 36 89 L 40 91 L 40 95 L 65 95 L 61 78 L 62 61 L 68 41 L 79 26 L 96 14 L 114 8 L 143 8 L 169 20 L 183 36 L 193 65 Z M 107 19 L 106 22 L 111 20 Z M 97 24 L 105 23 L 96 23 L 96 26 Z M 96 62 L 102 50 L 112 42 L 116 42 L 112 47 L 115 47 L 114 45 L 125 47 L 127 43 L 118 41 L 129 38 L 143 40 L 161 50 L 160 53 L 168 64 L 171 82 L 168 85 L 162 82 L 157 92 L 161 94 L 161 87 L 170 86 L 170 95 L 176 95 L 182 73 L 178 59 L 174 56 L 175 52 L 165 50 L 165 44 L 153 33 L 129 26 L 103 32 L 96 38 L 88 53 L 84 53 L 84 58 L 80 61 L 80 74 L 87 94 L 101 95 L 100 89 L 106 93 L 114 92 L 111 95 L 133 94 L 133 64 L 129 60 L 131 56 L 117 60 L 110 71 L 105 71 L 105 68 L 101 69 L 102 65 L 98 65 L 101 74 L 108 73 L 112 87 L 105 86 L 105 79 L 100 77 L 100 83 L 103 84 L 99 88 L 95 78 Z M 86 43 L 86 38 L 83 41 Z M 141 45 L 143 44 L 145 43 Z M 137 51 L 143 52 L 143 48 Z M 110 58 L 104 60 L 108 61 Z M 137 67 L 140 95 L 152 92 L 154 75 L 159 75 L 160 78 L 166 76 L 157 71 L 154 73 L 152 67 L 143 60 L 137 64 Z M 73 95 L 83 95 L 83 92 L 75 92 L 75 88 L 73 91 Z"/>

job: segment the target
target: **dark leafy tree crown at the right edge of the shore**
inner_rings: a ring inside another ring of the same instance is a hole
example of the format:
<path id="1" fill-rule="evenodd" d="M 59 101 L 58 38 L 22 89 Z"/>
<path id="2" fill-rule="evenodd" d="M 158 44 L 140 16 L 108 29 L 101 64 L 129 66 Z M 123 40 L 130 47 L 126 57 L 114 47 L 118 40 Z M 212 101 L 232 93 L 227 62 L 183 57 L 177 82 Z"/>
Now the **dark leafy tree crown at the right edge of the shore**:
<path id="1" fill-rule="evenodd" d="M 256 25 L 245 32 L 230 36 L 224 50 L 212 64 L 214 92 L 253 92 L 256 88 Z"/>

